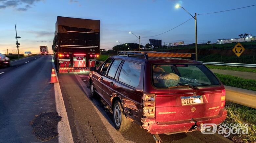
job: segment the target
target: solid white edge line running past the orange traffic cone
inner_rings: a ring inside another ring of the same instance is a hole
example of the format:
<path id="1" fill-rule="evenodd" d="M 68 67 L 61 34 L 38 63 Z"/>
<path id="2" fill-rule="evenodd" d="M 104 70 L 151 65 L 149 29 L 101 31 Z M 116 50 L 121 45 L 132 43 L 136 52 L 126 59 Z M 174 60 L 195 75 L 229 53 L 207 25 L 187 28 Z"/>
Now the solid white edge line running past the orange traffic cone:
<path id="1" fill-rule="evenodd" d="M 53 63 L 54 67 L 54 63 Z M 55 70 L 55 68 L 54 68 Z M 55 70 L 56 73 L 56 70 Z M 58 77 L 56 76 L 57 81 Z M 54 83 L 54 94 L 55 94 L 55 104 L 56 104 L 56 110 L 59 116 L 61 116 L 61 121 L 58 122 L 58 142 L 59 143 L 74 143 L 73 141 L 73 136 L 71 133 L 70 125 L 69 125 L 69 120 L 68 120 L 68 115 L 67 111 L 65 108 L 65 104 L 63 101 L 63 96 L 61 93 L 61 89 L 59 86 L 59 83 Z"/>

